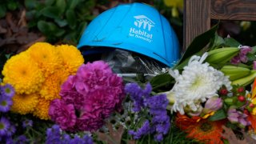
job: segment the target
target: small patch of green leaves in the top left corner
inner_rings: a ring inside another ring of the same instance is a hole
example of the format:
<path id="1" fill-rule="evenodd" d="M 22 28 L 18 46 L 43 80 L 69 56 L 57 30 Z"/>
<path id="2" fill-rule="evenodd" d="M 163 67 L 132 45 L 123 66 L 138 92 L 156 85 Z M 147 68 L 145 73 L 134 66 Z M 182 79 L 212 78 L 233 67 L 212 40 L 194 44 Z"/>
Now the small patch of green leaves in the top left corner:
<path id="1" fill-rule="evenodd" d="M 16 10 L 19 6 L 19 2 L 16 0 L 1 0 L 0 1 L 0 18 L 6 16 L 8 10 Z"/>

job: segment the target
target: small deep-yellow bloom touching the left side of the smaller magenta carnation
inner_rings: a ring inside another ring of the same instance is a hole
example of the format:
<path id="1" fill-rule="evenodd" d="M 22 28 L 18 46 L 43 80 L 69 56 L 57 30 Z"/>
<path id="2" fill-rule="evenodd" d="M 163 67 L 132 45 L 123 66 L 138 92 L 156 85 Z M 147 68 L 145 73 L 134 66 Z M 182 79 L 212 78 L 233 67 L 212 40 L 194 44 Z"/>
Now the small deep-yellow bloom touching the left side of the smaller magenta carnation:
<path id="1" fill-rule="evenodd" d="M 34 109 L 33 115 L 44 120 L 49 120 L 50 116 L 48 114 L 48 110 L 50 107 L 49 100 L 46 100 L 45 98 L 40 98 L 38 102 L 38 106 Z"/>

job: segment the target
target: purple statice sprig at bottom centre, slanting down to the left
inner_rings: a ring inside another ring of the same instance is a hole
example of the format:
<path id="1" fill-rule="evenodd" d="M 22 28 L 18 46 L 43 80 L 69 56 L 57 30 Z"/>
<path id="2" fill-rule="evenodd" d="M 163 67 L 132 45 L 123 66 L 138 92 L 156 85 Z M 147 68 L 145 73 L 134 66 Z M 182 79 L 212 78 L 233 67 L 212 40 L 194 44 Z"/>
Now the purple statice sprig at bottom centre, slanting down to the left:
<path id="1" fill-rule="evenodd" d="M 143 135 L 150 134 L 152 132 L 153 131 L 151 130 L 150 121 L 149 120 L 146 120 L 143 123 L 142 127 L 139 128 L 137 131 L 134 131 L 134 130 L 129 130 L 128 131 L 128 133 L 130 135 L 132 135 L 134 137 L 134 139 L 142 138 Z"/>

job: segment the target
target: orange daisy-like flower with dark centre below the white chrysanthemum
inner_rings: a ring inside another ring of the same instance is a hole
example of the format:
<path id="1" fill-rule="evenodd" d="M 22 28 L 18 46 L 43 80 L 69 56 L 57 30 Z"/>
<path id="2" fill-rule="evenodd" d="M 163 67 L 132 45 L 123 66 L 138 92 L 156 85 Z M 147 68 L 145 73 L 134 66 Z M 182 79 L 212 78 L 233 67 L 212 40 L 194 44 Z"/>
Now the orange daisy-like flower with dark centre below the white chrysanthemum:
<path id="1" fill-rule="evenodd" d="M 225 121 L 209 122 L 200 118 L 189 118 L 186 115 L 178 114 L 176 125 L 188 133 L 186 138 L 197 139 L 199 142 L 208 144 L 222 144 L 222 125 Z"/>

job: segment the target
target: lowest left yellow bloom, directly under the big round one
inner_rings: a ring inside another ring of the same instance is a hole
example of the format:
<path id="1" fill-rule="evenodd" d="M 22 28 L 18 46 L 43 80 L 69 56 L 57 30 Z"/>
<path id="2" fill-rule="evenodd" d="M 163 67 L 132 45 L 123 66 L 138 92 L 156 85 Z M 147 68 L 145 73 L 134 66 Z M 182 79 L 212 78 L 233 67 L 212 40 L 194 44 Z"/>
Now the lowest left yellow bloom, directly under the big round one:
<path id="1" fill-rule="evenodd" d="M 38 105 L 38 94 L 15 94 L 11 111 L 18 114 L 29 114 Z"/>

